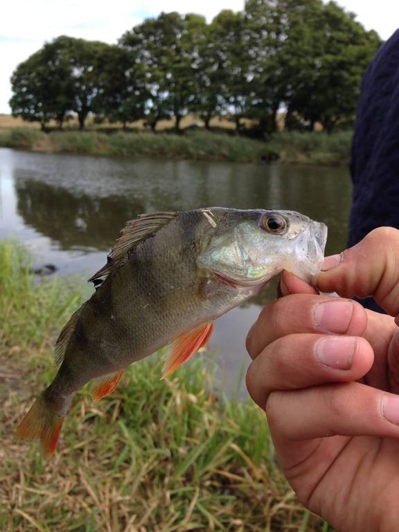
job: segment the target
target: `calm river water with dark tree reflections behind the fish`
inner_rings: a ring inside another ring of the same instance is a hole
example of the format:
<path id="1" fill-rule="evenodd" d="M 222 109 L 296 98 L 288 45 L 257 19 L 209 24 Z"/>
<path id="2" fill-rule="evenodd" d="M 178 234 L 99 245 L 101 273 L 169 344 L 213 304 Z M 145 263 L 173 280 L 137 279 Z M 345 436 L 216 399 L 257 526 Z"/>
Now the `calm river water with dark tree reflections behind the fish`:
<path id="1" fill-rule="evenodd" d="M 127 220 L 204 206 L 292 209 L 328 225 L 328 254 L 346 245 L 351 182 L 342 168 L 121 160 L 0 148 L 0 238 L 24 242 L 37 264 L 88 278 Z M 220 387 L 245 396 L 245 336 L 269 287 L 218 319 L 209 343 Z M 242 380 L 242 379 L 241 379 Z"/>

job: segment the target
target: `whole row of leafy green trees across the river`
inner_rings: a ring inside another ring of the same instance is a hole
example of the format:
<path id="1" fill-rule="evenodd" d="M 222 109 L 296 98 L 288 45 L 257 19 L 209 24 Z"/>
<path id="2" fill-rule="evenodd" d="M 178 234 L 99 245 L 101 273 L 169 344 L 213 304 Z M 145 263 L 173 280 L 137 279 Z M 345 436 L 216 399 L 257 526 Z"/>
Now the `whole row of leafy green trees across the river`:
<path id="1" fill-rule="evenodd" d="M 247 0 L 210 24 L 199 15 L 161 13 L 127 31 L 118 44 L 61 36 L 12 75 L 12 114 L 51 119 L 76 114 L 123 125 L 140 118 L 193 113 L 206 127 L 228 116 L 238 130 L 251 118 L 261 133 L 276 129 L 283 106 L 327 131 L 353 120 L 362 73 L 381 41 L 333 1 Z"/>

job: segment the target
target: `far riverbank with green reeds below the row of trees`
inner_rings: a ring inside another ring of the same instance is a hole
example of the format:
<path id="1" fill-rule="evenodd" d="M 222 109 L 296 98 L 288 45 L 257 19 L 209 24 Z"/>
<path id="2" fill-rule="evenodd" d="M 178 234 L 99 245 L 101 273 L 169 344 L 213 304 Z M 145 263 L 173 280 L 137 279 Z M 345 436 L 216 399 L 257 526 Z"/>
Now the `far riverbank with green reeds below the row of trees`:
<path id="1" fill-rule="evenodd" d="M 226 133 L 190 131 L 184 134 L 144 132 L 64 131 L 44 133 L 33 128 L 0 130 L 0 147 L 108 157 L 165 157 L 233 162 L 348 164 L 351 132 L 280 132 L 267 141 Z"/>

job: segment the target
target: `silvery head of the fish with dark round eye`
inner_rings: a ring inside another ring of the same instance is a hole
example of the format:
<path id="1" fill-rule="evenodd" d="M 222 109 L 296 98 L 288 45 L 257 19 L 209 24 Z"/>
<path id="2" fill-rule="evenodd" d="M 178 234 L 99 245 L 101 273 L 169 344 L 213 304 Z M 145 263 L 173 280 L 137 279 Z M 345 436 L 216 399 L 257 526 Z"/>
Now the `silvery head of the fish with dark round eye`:
<path id="1" fill-rule="evenodd" d="M 294 211 L 226 211 L 216 217 L 199 256 L 202 267 L 238 288 L 259 289 L 283 269 L 314 281 L 323 263 L 325 224 Z"/>

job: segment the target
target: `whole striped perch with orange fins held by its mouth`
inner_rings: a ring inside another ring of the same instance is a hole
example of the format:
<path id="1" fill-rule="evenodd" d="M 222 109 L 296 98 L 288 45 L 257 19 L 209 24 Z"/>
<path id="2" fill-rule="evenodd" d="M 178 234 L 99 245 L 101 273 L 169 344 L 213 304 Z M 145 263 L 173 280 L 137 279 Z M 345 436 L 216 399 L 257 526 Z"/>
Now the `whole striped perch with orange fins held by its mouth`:
<path id="1" fill-rule="evenodd" d="M 55 451 L 73 396 L 94 381 L 95 400 L 123 371 L 168 346 L 167 378 L 206 346 L 215 319 L 259 292 L 283 269 L 312 283 L 327 227 L 294 211 L 211 207 L 145 213 L 127 222 L 91 298 L 55 343 L 59 366 L 17 427 L 21 440 Z"/>

